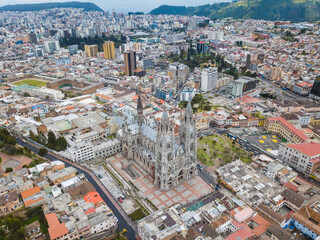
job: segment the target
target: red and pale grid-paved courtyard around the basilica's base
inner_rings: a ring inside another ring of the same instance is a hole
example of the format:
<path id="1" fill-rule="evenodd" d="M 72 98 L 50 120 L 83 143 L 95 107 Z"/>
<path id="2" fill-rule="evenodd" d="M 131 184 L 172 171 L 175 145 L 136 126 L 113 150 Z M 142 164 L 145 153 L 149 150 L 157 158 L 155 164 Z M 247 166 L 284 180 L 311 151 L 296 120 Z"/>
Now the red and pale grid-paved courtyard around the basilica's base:
<path id="1" fill-rule="evenodd" d="M 200 176 L 195 176 L 186 180 L 169 191 L 160 191 L 153 184 L 152 177 L 137 163 L 132 163 L 132 169 L 137 174 L 136 178 L 132 178 L 123 169 L 123 166 L 128 163 L 123 155 L 117 154 L 108 160 L 113 168 L 121 174 L 127 182 L 131 182 L 135 188 L 139 190 L 141 196 L 148 198 L 158 209 L 168 208 L 176 203 L 186 204 L 213 191 L 211 186 L 209 186 Z"/>

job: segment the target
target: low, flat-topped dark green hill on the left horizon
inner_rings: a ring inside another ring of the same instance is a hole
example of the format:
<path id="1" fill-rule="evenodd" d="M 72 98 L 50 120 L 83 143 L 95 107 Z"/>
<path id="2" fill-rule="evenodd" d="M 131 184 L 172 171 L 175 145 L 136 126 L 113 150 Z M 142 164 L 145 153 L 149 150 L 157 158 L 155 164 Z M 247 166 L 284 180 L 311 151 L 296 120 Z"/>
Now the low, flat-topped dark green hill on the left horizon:
<path id="1" fill-rule="evenodd" d="M 36 3 L 36 4 L 15 4 L 0 7 L 0 11 L 40 11 L 51 8 L 83 8 L 84 11 L 99 11 L 103 10 L 94 3 L 90 2 L 54 2 L 54 3 Z"/>

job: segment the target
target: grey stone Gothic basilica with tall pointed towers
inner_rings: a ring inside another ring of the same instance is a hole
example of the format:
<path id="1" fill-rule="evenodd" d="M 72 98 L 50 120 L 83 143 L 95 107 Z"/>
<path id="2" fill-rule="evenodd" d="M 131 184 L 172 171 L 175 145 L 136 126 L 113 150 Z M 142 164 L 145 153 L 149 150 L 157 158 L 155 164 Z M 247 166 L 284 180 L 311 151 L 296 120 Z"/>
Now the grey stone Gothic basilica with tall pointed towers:
<path id="1" fill-rule="evenodd" d="M 156 126 L 150 126 L 139 96 L 136 117 L 125 121 L 122 129 L 123 154 L 150 174 L 161 191 L 168 191 L 197 174 L 196 117 L 190 102 L 180 121 L 178 137 L 166 109 Z"/>

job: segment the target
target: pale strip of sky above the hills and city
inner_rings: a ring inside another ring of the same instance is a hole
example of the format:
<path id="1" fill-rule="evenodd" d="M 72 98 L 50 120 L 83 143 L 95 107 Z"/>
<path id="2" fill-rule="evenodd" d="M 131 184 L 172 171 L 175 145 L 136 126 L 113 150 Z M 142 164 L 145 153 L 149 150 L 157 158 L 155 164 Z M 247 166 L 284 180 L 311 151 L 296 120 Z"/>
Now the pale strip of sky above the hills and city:
<path id="1" fill-rule="evenodd" d="M 66 2 L 68 0 L 0 0 L 0 6 L 24 3 Z M 74 0 L 93 2 L 105 11 L 127 13 L 130 11 L 150 12 L 152 9 L 163 5 L 198 6 L 214 2 L 228 2 L 230 0 Z"/>

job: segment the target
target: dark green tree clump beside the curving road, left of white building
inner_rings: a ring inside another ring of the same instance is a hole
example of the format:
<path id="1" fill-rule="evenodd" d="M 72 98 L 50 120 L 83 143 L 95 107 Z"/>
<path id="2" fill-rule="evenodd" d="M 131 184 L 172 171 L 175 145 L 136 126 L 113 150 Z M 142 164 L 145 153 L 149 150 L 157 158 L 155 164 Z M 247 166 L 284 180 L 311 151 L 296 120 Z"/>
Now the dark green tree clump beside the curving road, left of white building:
<path id="1" fill-rule="evenodd" d="M 48 132 L 48 139 L 46 139 L 44 135 L 36 135 L 32 131 L 30 131 L 30 138 L 33 141 L 56 151 L 66 150 L 68 146 L 67 140 L 63 136 L 57 138 L 51 130 Z"/>

